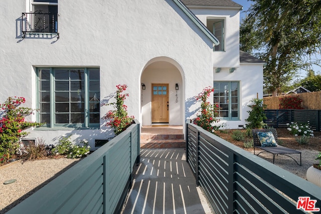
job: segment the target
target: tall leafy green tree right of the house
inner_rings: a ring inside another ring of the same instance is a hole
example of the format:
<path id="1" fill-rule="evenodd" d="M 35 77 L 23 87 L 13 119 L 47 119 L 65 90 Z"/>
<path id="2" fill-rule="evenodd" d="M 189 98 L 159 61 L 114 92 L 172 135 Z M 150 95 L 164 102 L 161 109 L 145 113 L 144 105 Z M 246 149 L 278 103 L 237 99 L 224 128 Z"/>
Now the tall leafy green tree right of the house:
<path id="1" fill-rule="evenodd" d="M 321 1 L 253 0 L 240 28 L 241 50 L 264 60 L 264 87 L 273 96 L 321 47 Z"/>

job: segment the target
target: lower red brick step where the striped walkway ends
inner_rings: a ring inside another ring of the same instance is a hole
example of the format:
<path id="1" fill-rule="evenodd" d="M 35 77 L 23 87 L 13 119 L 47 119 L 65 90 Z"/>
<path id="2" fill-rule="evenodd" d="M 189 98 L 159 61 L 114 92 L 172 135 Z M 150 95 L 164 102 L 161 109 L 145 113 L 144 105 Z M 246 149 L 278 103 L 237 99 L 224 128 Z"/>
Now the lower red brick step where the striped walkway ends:
<path id="1" fill-rule="evenodd" d="M 140 140 L 140 148 L 185 148 L 186 142 L 184 139 L 170 140 Z"/>

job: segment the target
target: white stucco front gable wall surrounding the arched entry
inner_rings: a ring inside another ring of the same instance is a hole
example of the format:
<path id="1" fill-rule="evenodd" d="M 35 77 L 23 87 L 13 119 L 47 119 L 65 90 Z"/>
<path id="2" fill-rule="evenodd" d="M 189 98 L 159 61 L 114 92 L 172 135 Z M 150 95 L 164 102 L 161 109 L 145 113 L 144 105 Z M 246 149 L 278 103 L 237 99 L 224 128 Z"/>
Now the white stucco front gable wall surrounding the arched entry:
<path id="1" fill-rule="evenodd" d="M 141 122 L 141 74 L 151 59 L 167 57 L 181 74 L 180 110 L 173 111 L 171 122 L 184 124 L 199 107 L 187 101 L 213 84 L 212 42 L 170 0 L 59 1 L 59 40 L 22 39 L 21 14 L 27 2 L 3 0 L 0 7 L 0 20 L 5 21 L 0 22 L 0 103 L 9 96 L 23 96 L 25 106 L 36 107 L 35 67 L 94 66 L 100 68 L 101 102 L 116 91 L 116 85 L 127 84 L 128 114 Z M 174 82 L 168 82 L 172 87 Z M 107 110 L 101 107 L 100 116 Z M 183 113 L 176 116 L 179 111 Z M 85 138 L 93 147 L 95 138 L 113 135 L 104 122 L 100 120 L 100 129 L 35 129 L 27 137 L 43 137 L 50 144 L 73 134 L 73 140 Z"/>

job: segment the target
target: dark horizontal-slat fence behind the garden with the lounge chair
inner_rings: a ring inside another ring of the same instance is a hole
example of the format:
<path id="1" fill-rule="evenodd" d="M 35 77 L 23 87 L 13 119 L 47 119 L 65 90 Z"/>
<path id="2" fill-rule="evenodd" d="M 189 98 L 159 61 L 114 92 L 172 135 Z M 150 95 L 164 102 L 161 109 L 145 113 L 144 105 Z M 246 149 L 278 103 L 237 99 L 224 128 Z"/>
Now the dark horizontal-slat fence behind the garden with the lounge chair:
<path id="1" fill-rule="evenodd" d="M 288 123 L 309 123 L 312 130 L 321 131 L 321 110 L 276 109 L 264 110 L 264 122 L 274 128 L 288 127 Z"/>

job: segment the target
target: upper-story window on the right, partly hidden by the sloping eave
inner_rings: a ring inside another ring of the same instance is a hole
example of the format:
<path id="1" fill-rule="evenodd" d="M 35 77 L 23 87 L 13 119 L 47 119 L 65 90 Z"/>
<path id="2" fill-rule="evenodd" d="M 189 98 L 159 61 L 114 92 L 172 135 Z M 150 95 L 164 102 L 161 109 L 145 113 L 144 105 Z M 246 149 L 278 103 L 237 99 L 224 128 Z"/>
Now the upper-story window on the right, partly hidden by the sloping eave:
<path id="1" fill-rule="evenodd" d="M 225 41 L 224 41 L 224 20 L 220 19 L 207 19 L 207 28 L 216 36 L 216 38 L 220 41 L 218 46 L 214 47 L 214 51 L 225 51 Z"/>

